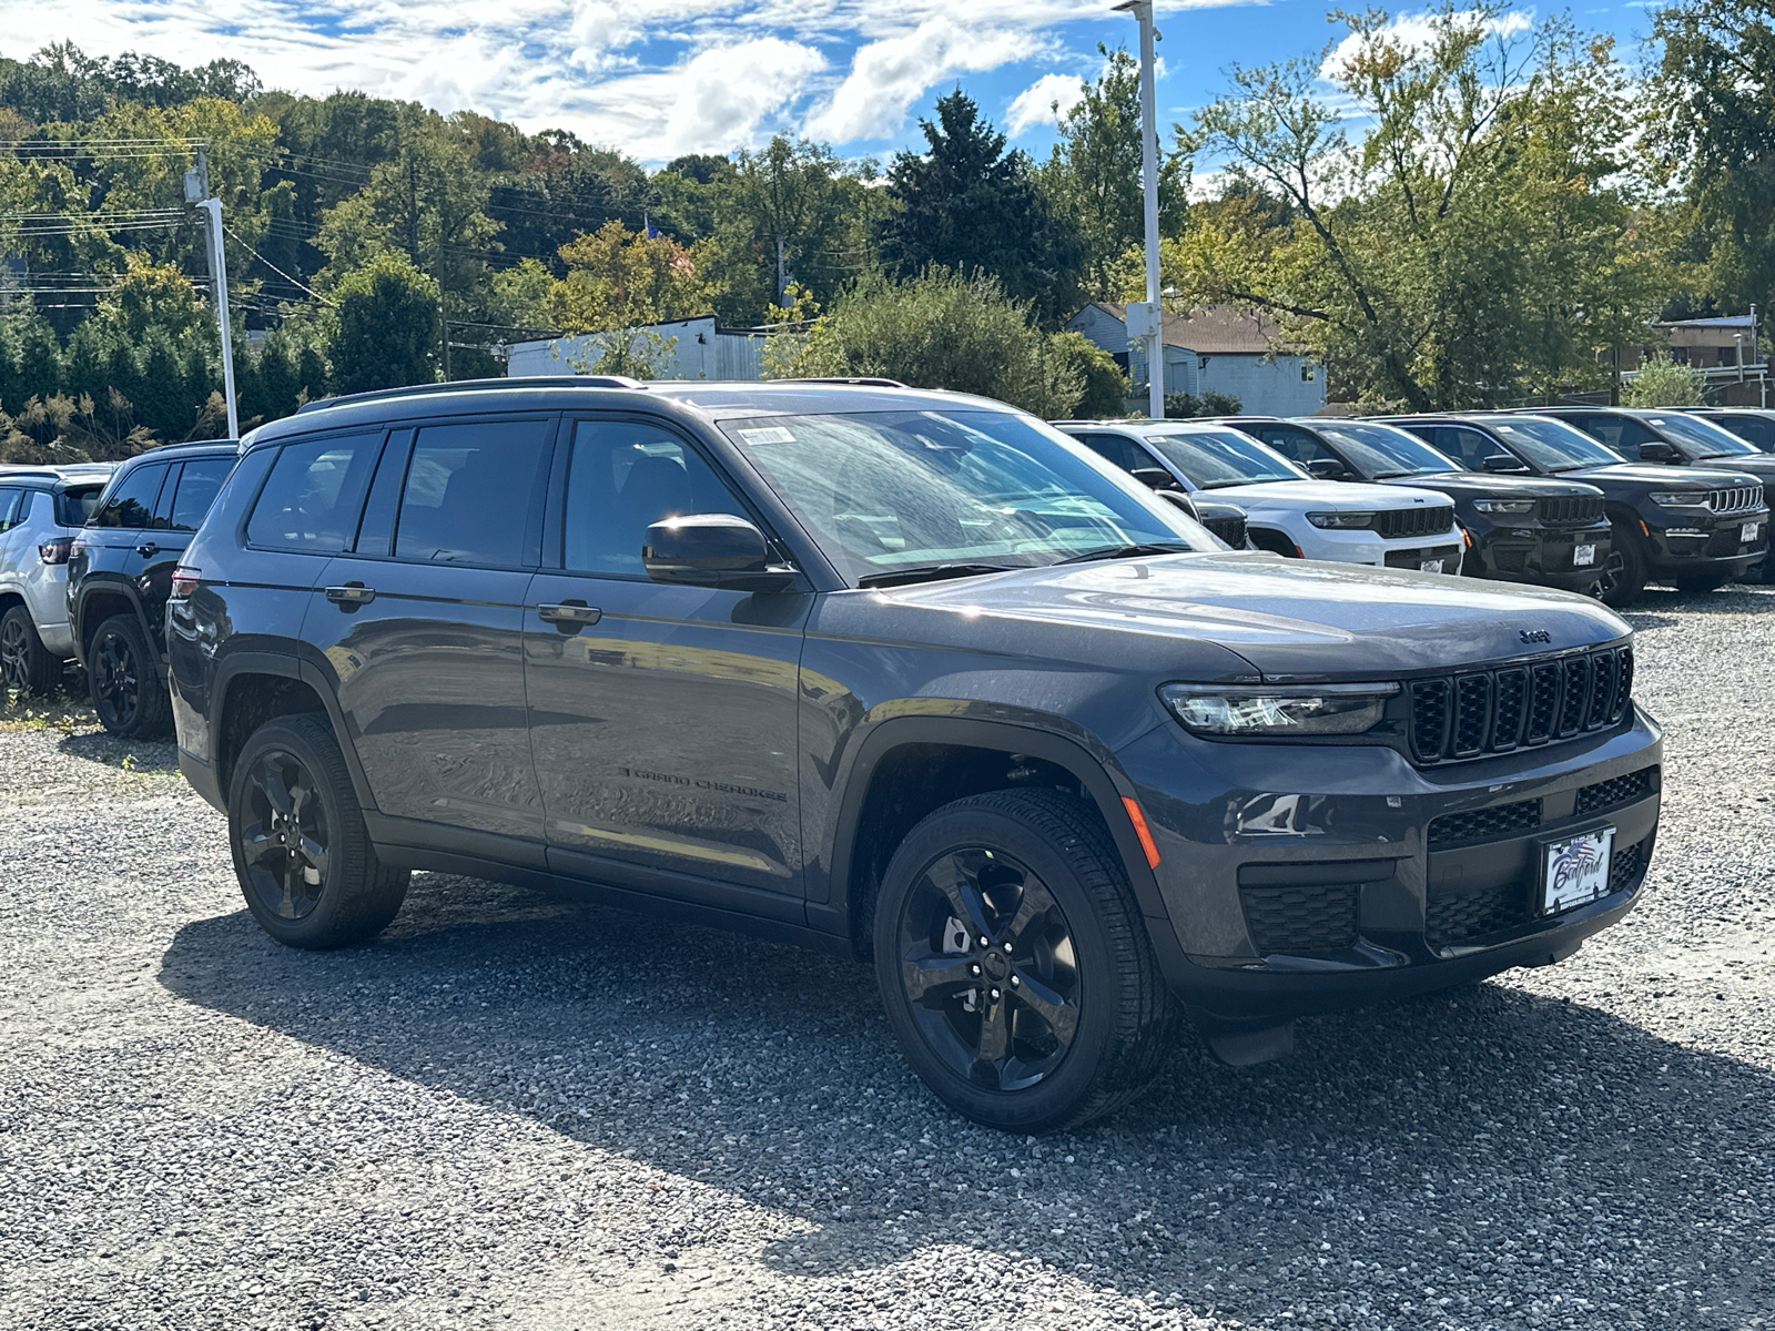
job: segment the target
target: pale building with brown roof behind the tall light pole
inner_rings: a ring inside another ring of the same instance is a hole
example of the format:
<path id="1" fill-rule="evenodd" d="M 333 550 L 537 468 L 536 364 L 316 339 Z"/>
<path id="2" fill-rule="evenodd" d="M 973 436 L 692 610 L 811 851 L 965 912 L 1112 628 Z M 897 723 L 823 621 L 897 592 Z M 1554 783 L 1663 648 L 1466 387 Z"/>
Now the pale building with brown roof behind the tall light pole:
<path id="1" fill-rule="evenodd" d="M 1085 334 L 1129 371 L 1145 408 L 1147 351 L 1127 344 L 1127 309 L 1100 300 L 1067 327 Z M 1274 350 L 1276 327 L 1232 305 L 1164 314 L 1164 390 L 1227 392 L 1251 415 L 1314 415 L 1326 401 L 1324 367 L 1289 350 Z"/>

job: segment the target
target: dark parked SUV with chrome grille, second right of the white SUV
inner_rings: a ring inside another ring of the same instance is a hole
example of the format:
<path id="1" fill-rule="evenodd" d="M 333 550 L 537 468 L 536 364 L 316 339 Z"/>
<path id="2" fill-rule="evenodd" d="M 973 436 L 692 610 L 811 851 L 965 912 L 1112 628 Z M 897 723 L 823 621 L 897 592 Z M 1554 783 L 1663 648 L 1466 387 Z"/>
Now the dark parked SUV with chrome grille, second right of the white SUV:
<path id="1" fill-rule="evenodd" d="M 1768 550 L 1763 486 L 1736 465 L 1715 470 L 1622 461 L 1594 435 L 1548 415 L 1425 415 L 1395 424 L 1475 470 L 1519 467 L 1598 486 L 1617 555 L 1613 582 L 1603 595 L 1610 605 L 1626 605 L 1647 582 L 1709 591 L 1741 577 Z"/>

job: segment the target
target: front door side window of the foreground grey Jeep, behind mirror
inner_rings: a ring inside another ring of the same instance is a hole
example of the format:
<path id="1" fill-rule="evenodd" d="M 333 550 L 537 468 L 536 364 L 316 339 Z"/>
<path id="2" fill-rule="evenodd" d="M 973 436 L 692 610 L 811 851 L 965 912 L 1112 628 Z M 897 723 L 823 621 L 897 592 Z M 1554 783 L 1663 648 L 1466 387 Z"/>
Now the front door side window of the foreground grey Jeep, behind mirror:
<path id="1" fill-rule="evenodd" d="M 728 484 L 676 435 L 643 421 L 580 421 L 566 472 L 563 563 L 643 575 L 648 527 L 683 513 L 749 520 Z"/>

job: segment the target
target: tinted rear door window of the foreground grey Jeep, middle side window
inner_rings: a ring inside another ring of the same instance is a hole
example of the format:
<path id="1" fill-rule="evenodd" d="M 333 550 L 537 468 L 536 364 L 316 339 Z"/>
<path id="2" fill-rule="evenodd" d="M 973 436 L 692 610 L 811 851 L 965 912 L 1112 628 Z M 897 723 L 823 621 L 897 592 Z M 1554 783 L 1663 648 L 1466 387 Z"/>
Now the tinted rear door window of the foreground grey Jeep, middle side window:
<path id="1" fill-rule="evenodd" d="M 531 504 L 550 431 L 548 421 L 424 426 L 406 463 L 394 554 L 483 568 L 527 563 Z"/>

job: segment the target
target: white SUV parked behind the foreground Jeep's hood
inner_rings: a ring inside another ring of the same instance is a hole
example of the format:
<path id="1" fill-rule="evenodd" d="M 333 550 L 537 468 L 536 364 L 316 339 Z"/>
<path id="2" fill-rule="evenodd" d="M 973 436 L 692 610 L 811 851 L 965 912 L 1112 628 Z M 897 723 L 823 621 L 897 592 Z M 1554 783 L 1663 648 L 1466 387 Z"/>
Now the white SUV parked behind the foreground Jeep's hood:
<path id="1" fill-rule="evenodd" d="M 1260 550 L 1294 559 L 1459 573 L 1464 541 L 1448 495 L 1397 484 L 1317 481 L 1250 435 L 1175 421 L 1056 421 L 1093 453 L 1154 486 L 1212 490 L 1246 511 Z M 1163 472 L 1163 476 L 1159 474 Z"/>

